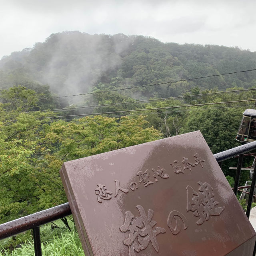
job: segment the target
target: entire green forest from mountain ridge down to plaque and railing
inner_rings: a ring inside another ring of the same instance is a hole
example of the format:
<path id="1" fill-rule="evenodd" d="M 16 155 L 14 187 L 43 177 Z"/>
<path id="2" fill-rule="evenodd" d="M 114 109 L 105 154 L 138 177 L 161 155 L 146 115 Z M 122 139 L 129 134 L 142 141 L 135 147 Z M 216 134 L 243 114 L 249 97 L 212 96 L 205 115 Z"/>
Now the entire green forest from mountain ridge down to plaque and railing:
<path id="1" fill-rule="evenodd" d="M 4 56 L 0 222 L 66 202 L 59 170 L 68 160 L 195 130 L 214 154 L 239 146 L 256 71 L 221 74 L 254 68 L 256 52 L 239 48 L 77 31 Z M 189 80 L 202 76 L 212 77 Z M 222 166 L 231 186 L 235 165 Z"/>

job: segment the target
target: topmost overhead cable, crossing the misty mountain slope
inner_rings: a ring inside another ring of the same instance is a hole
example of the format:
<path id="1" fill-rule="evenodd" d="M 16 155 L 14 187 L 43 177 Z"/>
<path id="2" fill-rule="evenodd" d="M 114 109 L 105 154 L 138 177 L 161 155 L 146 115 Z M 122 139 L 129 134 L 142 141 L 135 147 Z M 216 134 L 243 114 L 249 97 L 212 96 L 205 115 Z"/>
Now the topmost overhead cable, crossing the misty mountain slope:
<path id="1" fill-rule="evenodd" d="M 250 72 L 250 71 L 255 71 L 255 70 L 256 70 L 256 68 L 250 69 L 250 70 L 242 70 L 242 71 L 235 71 L 235 72 L 217 74 L 217 75 L 200 76 L 200 77 L 196 77 L 196 78 L 188 78 L 188 79 L 181 79 L 181 80 L 176 80 L 176 81 L 168 81 L 168 82 L 162 82 L 162 83 L 157 83 L 157 84 L 147 84 L 147 85 L 132 86 L 132 87 L 128 87 L 128 88 L 105 90 L 105 91 L 99 91 L 99 92 L 86 92 L 86 93 L 81 93 L 81 94 L 73 94 L 73 95 L 66 95 L 66 96 L 42 98 L 42 99 L 39 99 L 39 100 L 48 100 L 48 99 L 56 99 L 56 98 L 66 98 L 66 97 L 73 97 L 73 96 L 82 96 L 82 95 L 88 95 L 88 94 L 98 94 L 98 93 L 103 93 L 103 92 L 116 92 L 116 91 L 130 90 L 130 89 L 134 89 L 134 88 L 143 88 L 143 87 L 156 86 L 156 85 L 162 85 L 162 84 L 174 84 L 174 83 L 177 83 L 177 82 L 197 80 L 197 79 L 201 79 L 201 78 L 209 78 L 209 77 L 214 77 L 214 76 L 224 76 L 224 75 L 230 75 L 230 74 L 236 74 L 236 73 L 242 73 L 242 72 Z"/>

